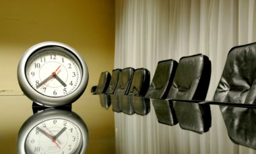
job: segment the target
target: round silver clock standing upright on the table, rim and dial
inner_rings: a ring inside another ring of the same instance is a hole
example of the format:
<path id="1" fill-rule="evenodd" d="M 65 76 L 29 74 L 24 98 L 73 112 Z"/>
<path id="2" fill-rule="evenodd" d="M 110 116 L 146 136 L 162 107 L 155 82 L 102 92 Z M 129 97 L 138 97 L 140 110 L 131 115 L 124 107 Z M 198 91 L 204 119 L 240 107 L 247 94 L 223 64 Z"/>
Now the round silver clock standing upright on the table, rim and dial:
<path id="1" fill-rule="evenodd" d="M 18 65 L 20 88 L 30 100 L 44 106 L 75 102 L 86 90 L 88 68 L 78 52 L 59 42 L 29 48 Z"/>

